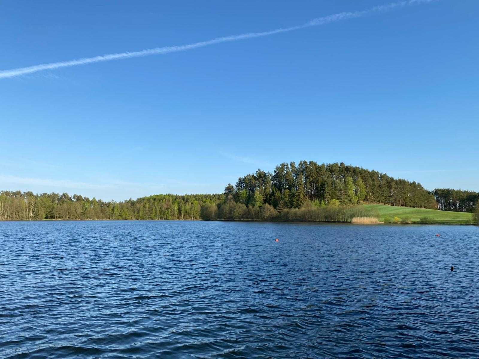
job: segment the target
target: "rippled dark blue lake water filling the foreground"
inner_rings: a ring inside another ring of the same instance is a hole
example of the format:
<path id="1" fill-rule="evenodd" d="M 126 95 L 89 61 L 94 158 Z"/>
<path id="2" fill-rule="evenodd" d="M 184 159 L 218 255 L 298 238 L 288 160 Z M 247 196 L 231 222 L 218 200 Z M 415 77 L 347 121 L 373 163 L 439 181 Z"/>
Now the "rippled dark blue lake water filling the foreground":
<path id="1" fill-rule="evenodd" d="M 474 226 L 0 222 L 0 358 L 478 358 L 478 258 Z"/>

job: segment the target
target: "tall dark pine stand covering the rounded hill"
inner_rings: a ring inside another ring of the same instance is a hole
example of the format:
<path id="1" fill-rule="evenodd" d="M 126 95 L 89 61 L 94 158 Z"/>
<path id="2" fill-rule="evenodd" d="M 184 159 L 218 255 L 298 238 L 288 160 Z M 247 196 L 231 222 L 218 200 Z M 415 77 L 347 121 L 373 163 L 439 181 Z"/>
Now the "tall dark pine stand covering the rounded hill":
<path id="1" fill-rule="evenodd" d="M 273 173 L 260 169 L 238 179 L 229 191 L 235 202 L 267 203 L 276 209 L 299 208 L 306 201 L 342 205 L 379 203 L 415 208 L 437 208 L 434 195 L 420 183 L 394 179 L 384 173 L 344 163 L 314 161 L 282 163 Z"/>

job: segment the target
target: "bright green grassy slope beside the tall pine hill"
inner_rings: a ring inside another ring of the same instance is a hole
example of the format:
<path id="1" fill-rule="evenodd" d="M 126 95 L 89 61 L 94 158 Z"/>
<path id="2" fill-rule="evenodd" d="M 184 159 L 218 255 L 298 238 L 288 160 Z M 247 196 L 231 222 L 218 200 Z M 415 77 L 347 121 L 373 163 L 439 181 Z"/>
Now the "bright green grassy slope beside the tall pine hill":
<path id="1" fill-rule="evenodd" d="M 429 217 L 436 220 L 438 224 L 471 224 L 472 213 L 449 212 L 439 210 L 427 210 L 422 208 L 394 207 L 383 204 L 365 204 L 368 209 L 374 209 L 378 213 L 380 222 L 384 222 L 386 217 L 393 219 L 399 217 L 409 217 L 412 223 L 419 223 L 420 218 Z"/>

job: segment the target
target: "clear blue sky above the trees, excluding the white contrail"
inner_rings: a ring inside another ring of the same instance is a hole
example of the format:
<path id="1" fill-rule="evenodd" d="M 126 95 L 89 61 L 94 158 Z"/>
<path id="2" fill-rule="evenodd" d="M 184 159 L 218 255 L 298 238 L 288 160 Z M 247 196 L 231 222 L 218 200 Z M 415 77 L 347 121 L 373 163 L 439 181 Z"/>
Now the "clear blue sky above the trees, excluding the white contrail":
<path id="1" fill-rule="evenodd" d="M 0 70 L 301 25 L 383 0 L 3 1 Z M 284 161 L 479 191 L 477 0 L 0 79 L 0 189 L 221 192 Z"/>

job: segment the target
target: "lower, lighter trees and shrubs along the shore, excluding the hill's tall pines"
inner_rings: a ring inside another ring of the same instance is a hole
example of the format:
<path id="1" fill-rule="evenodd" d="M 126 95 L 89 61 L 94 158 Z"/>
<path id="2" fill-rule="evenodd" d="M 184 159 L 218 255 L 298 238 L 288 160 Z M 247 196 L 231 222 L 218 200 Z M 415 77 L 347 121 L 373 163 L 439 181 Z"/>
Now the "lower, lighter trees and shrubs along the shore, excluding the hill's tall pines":
<path id="1" fill-rule="evenodd" d="M 68 193 L 34 194 L 31 191 L 1 191 L 0 220 L 288 220 L 351 222 L 353 217 L 372 215 L 361 206 L 305 202 L 301 208 L 278 211 L 273 206 L 246 206 L 225 194 L 160 194 L 103 202 Z"/>

